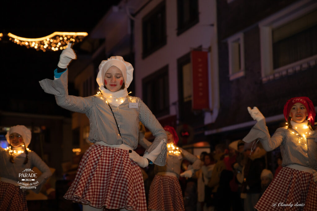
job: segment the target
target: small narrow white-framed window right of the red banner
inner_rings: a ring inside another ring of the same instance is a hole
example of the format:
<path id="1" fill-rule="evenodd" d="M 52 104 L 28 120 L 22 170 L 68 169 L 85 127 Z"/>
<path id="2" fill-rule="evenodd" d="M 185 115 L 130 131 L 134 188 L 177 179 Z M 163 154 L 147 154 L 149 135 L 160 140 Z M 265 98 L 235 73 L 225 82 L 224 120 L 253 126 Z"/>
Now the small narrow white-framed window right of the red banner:
<path id="1" fill-rule="evenodd" d="M 243 33 L 228 39 L 229 48 L 229 77 L 234 80 L 244 76 L 244 42 Z"/>

